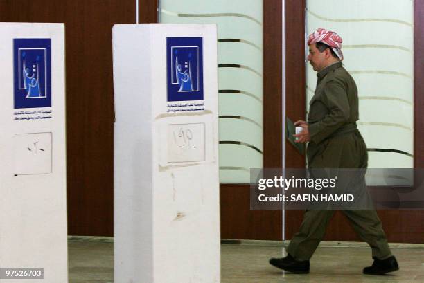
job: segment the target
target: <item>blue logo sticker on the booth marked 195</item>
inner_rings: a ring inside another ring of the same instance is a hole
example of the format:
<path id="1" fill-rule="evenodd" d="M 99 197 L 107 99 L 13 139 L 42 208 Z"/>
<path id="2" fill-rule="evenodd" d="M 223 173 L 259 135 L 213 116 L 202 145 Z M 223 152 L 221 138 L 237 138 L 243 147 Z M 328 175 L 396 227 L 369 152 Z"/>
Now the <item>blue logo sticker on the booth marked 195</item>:
<path id="1" fill-rule="evenodd" d="M 168 101 L 203 100 L 202 37 L 166 38 Z"/>

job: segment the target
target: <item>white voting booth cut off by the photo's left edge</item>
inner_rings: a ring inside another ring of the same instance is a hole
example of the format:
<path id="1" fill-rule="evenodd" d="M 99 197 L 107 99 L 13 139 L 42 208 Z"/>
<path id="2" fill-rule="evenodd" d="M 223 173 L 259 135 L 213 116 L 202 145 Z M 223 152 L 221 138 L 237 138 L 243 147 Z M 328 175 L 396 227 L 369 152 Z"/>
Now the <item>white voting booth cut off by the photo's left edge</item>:
<path id="1" fill-rule="evenodd" d="M 68 282 L 64 24 L 0 23 L 0 66 L 0 268 L 44 268 L 0 282 Z"/>

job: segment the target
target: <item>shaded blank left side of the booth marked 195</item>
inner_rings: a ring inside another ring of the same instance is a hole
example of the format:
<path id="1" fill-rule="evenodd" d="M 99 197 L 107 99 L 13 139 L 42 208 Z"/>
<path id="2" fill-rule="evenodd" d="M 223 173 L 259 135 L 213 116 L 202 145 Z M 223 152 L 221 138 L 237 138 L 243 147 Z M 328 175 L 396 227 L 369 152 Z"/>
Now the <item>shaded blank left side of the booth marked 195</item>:
<path id="1" fill-rule="evenodd" d="M 153 282 L 148 28 L 113 28 L 114 282 Z"/>

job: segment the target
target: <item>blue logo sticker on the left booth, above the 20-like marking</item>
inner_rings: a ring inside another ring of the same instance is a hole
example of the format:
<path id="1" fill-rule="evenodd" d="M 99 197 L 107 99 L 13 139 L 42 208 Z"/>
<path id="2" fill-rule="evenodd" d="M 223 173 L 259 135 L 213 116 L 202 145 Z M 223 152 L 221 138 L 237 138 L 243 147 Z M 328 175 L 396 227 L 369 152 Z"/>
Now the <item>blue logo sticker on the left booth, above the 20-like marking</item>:
<path id="1" fill-rule="evenodd" d="M 15 109 L 51 107 L 51 39 L 13 39 Z"/>

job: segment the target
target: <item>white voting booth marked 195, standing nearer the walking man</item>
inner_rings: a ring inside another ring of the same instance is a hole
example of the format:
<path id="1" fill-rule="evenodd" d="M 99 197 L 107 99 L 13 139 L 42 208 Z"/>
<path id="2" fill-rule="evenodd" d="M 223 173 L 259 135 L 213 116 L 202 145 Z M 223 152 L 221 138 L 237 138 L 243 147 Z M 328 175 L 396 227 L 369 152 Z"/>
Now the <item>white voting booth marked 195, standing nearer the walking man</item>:
<path id="1" fill-rule="evenodd" d="M 220 282 L 215 25 L 113 28 L 114 282 Z"/>

